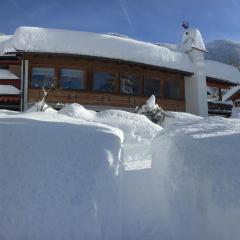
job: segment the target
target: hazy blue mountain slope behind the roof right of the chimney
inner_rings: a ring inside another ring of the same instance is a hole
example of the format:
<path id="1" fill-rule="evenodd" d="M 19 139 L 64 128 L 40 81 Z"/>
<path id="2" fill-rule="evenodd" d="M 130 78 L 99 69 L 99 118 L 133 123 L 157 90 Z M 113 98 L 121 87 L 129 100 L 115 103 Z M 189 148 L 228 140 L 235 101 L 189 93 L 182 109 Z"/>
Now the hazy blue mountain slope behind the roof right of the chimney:
<path id="1" fill-rule="evenodd" d="M 240 69 L 240 42 L 215 40 L 206 44 L 207 59 L 234 65 Z"/>

